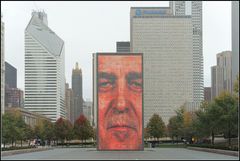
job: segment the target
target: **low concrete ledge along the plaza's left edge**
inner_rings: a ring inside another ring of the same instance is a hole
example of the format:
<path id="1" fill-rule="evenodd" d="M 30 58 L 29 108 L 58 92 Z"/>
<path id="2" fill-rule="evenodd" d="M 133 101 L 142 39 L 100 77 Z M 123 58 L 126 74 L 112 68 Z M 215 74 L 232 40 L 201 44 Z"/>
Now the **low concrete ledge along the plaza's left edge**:
<path id="1" fill-rule="evenodd" d="M 51 150 L 53 148 L 32 148 L 32 149 L 20 149 L 20 150 L 9 150 L 9 151 L 2 151 L 1 156 L 9 156 L 15 154 L 22 154 L 22 153 L 31 153 L 31 152 L 38 152 L 38 151 L 45 151 Z"/>

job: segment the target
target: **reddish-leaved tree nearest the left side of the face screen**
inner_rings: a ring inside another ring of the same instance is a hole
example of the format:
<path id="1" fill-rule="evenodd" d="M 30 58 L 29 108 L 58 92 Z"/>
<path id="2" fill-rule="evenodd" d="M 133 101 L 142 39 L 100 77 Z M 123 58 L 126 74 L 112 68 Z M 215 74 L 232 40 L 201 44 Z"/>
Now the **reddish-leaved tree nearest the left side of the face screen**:
<path id="1" fill-rule="evenodd" d="M 76 137 L 80 140 L 86 140 L 93 136 L 93 128 L 90 122 L 86 119 L 84 115 L 80 115 L 79 118 L 74 122 L 74 133 Z"/>

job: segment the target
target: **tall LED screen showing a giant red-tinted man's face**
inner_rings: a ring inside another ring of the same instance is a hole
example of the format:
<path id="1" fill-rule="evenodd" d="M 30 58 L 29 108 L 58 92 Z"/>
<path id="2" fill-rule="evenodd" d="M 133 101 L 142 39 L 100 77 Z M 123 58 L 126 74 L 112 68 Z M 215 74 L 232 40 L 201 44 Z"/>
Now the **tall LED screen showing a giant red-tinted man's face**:
<path id="1" fill-rule="evenodd" d="M 98 150 L 142 150 L 142 54 L 97 57 Z"/>

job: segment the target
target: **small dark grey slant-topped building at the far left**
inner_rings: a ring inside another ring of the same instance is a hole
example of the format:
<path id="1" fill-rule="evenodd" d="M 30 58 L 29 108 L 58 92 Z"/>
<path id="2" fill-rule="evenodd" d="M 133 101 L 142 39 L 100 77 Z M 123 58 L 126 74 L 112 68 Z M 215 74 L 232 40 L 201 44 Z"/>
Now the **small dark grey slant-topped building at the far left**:
<path id="1" fill-rule="evenodd" d="M 17 69 L 5 61 L 5 87 L 17 88 Z"/>

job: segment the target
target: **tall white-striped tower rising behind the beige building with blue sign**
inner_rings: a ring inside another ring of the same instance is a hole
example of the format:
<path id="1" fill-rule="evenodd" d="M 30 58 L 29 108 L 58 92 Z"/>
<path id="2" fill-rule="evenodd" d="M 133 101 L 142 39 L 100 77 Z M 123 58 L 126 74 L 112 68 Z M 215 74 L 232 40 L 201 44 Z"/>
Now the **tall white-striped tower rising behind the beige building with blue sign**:
<path id="1" fill-rule="evenodd" d="M 170 1 L 173 15 L 192 17 L 193 33 L 193 101 L 204 99 L 203 53 L 202 53 L 202 1 Z"/>

